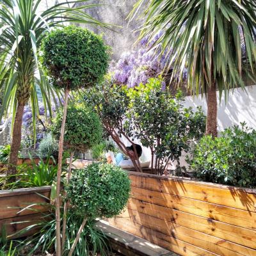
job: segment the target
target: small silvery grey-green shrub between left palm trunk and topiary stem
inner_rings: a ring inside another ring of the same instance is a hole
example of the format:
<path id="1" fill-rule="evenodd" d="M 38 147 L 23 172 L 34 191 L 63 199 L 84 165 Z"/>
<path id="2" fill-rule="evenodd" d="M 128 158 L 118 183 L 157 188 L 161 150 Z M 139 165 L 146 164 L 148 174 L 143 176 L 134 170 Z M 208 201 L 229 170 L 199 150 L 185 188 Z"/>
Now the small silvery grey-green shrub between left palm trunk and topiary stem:
<path id="1" fill-rule="evenodd" d="M 38 156 L 42 159 L 47 157 L 58 157 L 58 143 L 52 138 L 51 134 L 47 134 L 45 138 L 40 142 L 38 148 Z"/>

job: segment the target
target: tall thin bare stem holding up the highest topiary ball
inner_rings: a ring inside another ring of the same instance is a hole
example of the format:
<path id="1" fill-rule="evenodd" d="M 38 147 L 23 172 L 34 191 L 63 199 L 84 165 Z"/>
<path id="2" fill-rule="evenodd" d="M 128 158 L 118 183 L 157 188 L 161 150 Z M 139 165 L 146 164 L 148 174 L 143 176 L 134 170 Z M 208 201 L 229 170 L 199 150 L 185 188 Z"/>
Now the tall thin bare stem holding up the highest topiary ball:
<path id="1" fill-rule="evenodd" d="M 58 172 L 57 172 L 57 188 L 56 188 L 56 256 L 61 256 L 61 228 L 60 228 L 60 182 L 61 182 L 61 167 L 62 167 L 62 154 L 63 154 L 63 142 L 64 142 L 64 132 L 65 123 L 67 116 L 67 106 L 68 106 L 68 95 L 69 89 L 65 89 L 65 102 L 63 109 L 63 119 L 61 123 L 60 141 L 59 141 L 59 156 L 58 156 Z"/>

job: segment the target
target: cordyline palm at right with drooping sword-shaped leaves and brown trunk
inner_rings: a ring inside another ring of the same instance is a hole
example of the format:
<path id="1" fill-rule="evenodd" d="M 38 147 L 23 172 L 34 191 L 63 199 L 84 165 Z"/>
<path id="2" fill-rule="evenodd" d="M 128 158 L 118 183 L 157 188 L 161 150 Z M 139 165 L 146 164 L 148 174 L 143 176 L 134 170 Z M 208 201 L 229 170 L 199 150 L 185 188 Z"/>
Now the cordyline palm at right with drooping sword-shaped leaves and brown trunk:
<path id="1" fill-rule="evenodd" d="M 206 134 L 217 136 L 216 90 L 225 95 L 230 88 L 255 82 L 255 0 L 139 0 L 130 17 L 145 7 L 141 38 L 161 44 L 168 56 L 166 70 L 173 68 L 172 82 L 182 81 L 196 94 L 206 93 Z"/>

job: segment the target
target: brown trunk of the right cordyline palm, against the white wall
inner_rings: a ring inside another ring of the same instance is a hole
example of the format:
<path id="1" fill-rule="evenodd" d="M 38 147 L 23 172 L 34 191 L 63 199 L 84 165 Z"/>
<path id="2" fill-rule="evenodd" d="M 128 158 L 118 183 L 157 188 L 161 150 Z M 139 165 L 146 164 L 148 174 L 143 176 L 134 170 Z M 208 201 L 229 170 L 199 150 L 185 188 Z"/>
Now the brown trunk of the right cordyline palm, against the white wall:
<path id="1" fill-rule="evenodd" d="M 212 82 L 211 88 L 207 92 L 207 122 L 205 134 L 210 134 L 212 137 L 217 137 L 217 96 L 216 83 Z"/>

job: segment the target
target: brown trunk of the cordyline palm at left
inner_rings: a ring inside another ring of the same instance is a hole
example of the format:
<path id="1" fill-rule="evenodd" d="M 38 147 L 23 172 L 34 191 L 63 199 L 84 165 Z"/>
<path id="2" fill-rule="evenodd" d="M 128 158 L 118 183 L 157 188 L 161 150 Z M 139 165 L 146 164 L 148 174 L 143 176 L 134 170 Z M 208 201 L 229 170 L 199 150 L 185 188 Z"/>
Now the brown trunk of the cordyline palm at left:
<path id="1" fill-rule="evenodd" d="M 20 141 L 21 141 L 21 126 L 22 126 L 22 116 L 24 112 L 24 104 L 18 102 L 18 106 L 16 109 L 16 115 L 13 125 L 12 132 L 12 144 L 11 144 L 11 152 L 8 160 L 8 170 L 7 175 L 16 174 L 16 166 L 18 162 L 18 154 L 20 149 Z M 14 182 L 15 177 L 10 177 L 8 182 Z"/>

